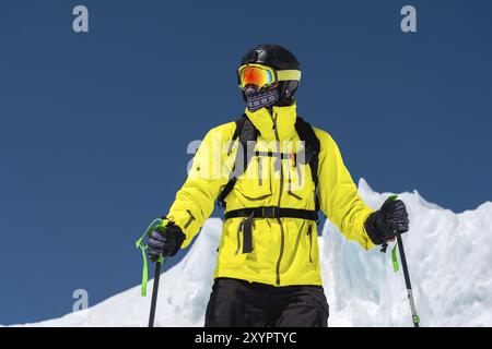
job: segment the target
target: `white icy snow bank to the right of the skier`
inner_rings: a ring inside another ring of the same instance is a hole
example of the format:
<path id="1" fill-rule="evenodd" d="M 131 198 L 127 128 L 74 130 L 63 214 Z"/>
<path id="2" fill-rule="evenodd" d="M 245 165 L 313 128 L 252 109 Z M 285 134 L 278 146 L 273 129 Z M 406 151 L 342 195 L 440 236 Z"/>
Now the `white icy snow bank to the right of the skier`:
<path id="1" fill-rule="evenodd" d="M 364 180 L 364 201 L 379 207 Z M 455 214 L 418 192 L 399 197 L 410 214 L 403 236 L 422 326 L 492 326 L 492 203 Z M 329 222 L 323 232 L 324 281 L 332 326 L 411 326 L 405 280 L 387 255 L 347 242 Z"/>

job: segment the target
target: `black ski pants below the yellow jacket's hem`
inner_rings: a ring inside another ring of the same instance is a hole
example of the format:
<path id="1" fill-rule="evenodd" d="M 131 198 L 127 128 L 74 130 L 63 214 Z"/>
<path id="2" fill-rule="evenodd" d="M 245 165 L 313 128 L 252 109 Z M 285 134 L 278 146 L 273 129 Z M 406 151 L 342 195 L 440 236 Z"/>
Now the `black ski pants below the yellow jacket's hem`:
<path id="1" fill-rule="evenodd" d="M 216 278 L 206 327 L 327 327 L 321 286 L 284 286 Z"/>

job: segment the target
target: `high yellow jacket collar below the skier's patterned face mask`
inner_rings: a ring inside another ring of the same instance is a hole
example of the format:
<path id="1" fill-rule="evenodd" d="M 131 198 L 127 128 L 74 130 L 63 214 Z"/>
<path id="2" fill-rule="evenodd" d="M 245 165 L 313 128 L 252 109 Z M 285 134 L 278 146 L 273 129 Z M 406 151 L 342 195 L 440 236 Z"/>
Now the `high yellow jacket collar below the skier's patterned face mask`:
<path id="1" fill-rule="evenodd" d="M 290 141 L 296 134 L 295 120 L 297 113 L 295 101 L 285 107 L 273 106 L 271 113 L 267 108 L 261 108 L 255 112 L 246 108 L 245 112 L 266 141 L 276 141 L 273 120 L 277 120 L 276 124 L 280 141 Z"/>

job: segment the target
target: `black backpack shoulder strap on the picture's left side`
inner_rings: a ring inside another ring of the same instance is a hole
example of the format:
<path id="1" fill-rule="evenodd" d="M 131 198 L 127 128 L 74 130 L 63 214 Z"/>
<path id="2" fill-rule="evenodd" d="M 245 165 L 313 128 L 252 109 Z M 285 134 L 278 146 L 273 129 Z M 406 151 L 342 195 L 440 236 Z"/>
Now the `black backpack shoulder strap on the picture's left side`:
<path id="1" fill-rule="evenodd" d="M 243 116 L 239 119 L 237 119 L 235 122 L 236 122 L 236 130 L 234 131 L 227 155 L 231 154 L 233 145 L 236 140 L 238 140 L 238 142 L 241 144 L 238 151 L 242 151 L 243 153 L 241 154 L 239 152 L 237 152 L 236 159 L 234 160 L 234 168 L 231 171 L 229 182 L 227 182 L 227 184 L 225 184 L 224 189 L 219 194 L 218 203 L 219 203 L 219 206 L 221 206 L 222 208 L 225 208 L 225 198 L 232 192 L 232 190 L 234 189 L 234 185 L 236 184 L 237 178 L 244 173 L 244 171 L 246 170 L 246 168 L 249 164 L 249 160 L 251 159 L 251 156 L 253 156 L 251 152 L 247 152 L 248 142 L 256 142 L 256 140 L 258 139 L 258 134 L 259 134 L 258 130 L 255 128 L 253 122 L 248 119 L 246 113 L 243 113 Z M 241 164 L 239 161 L 243 161 L 243 164 Z"/>

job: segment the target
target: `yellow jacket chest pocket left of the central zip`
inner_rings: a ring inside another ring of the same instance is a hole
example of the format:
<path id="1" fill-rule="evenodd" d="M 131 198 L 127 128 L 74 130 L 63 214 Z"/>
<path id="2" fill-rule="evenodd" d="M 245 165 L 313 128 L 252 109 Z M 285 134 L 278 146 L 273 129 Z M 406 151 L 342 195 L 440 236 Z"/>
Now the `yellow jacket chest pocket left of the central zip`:
<path id="1" fill-rule="evenodd" d="M 250 201 L 265 200 L 272 194 L 271 161 L 267 156 L 253 156 L 246 171 L 237 179 L 241 195 Z"/>

